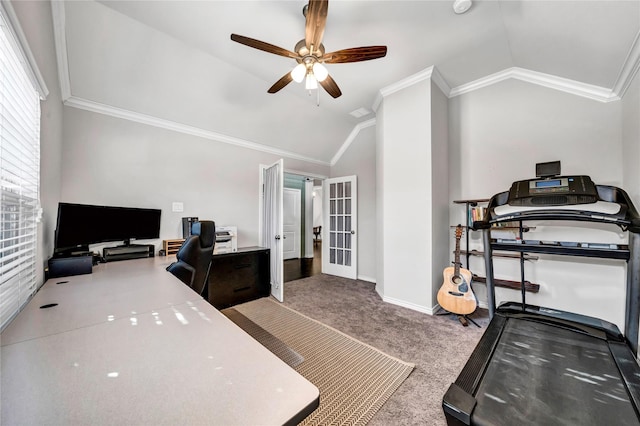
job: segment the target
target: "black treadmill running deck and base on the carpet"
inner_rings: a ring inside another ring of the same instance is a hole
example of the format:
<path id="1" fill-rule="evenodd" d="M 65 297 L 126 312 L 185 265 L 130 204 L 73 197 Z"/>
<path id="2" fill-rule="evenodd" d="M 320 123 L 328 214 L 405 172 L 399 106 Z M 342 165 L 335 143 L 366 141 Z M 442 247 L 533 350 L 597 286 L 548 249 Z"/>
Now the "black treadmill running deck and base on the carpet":
<path id="1" fill-rule="evenodd" d="M 640 368 L 618 328 L 507 303 L 443 399 L 448 425 L 638 425 Z"/>

